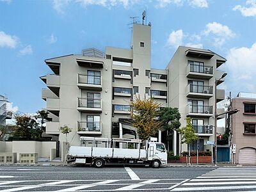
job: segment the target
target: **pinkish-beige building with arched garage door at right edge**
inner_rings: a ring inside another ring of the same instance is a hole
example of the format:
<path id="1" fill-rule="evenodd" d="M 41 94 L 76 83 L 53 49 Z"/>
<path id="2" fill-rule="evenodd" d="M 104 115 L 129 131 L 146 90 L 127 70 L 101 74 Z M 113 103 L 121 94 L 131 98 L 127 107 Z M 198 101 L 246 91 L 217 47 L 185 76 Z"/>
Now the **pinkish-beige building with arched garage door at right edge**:
<path id="1" fill-rule="evenodd" d="M 239 110 L 232 115 L 234 163 L 256 164 L 256 93 L 238 93 L 232 99 L 232 108 Z"/>

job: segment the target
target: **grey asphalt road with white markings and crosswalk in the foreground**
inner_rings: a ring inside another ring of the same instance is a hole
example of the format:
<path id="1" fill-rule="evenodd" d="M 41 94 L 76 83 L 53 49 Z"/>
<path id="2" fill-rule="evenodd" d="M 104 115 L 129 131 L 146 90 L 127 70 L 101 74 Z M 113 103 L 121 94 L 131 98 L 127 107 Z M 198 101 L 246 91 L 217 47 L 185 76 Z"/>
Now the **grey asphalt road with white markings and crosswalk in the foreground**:
<path id="1" fill-rule="evenodd" d="M 0 166 L 0 192 L 255 190 L 256 168 Z"/>

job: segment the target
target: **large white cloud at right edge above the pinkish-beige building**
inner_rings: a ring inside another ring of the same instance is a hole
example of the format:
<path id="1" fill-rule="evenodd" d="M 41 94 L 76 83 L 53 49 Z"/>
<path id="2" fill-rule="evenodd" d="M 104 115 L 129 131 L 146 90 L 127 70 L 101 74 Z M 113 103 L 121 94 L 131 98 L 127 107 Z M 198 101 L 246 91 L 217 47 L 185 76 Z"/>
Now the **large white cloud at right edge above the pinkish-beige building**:
<path id="1" fill-rule="evenodd" d="M 252 47 L 232 48 L 227 55 L 227 72 L 230 86 L 236 92 L 256 92 L 256 42 Z"/>

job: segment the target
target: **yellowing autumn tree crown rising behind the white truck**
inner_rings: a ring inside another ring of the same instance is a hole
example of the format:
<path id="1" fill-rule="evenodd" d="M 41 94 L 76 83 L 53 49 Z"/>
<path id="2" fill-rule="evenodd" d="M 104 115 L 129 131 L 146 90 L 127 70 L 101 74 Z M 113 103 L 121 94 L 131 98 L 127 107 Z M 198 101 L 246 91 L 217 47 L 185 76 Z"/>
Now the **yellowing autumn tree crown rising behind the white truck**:
<path id="1" fill-rule="evenodd" d="M 161 122 L 157 120 L 161 104 L 154 102 L 152 98 L 140 99 L 136 97 L 132 102 L 132 126 L 136 127 L 141 140 L 147 140 L 154 136 L 161 128 Z"/>

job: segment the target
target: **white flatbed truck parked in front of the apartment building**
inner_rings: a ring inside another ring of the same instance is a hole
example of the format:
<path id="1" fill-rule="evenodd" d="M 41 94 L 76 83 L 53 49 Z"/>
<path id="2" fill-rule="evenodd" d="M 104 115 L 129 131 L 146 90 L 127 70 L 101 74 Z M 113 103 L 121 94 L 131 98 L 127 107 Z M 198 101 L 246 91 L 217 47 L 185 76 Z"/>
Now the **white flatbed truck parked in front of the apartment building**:
<path id="1" fill-rule="evenodd" d="M 106 163 L 149 164 L 159 168 L 167 164 L 167 153 L 157 138 L 146 141 L 122 138 L 93 138 L 81 136 L 81 147 L 71 146 L 68 163 L 91 164 L 102 168 Z"/>

